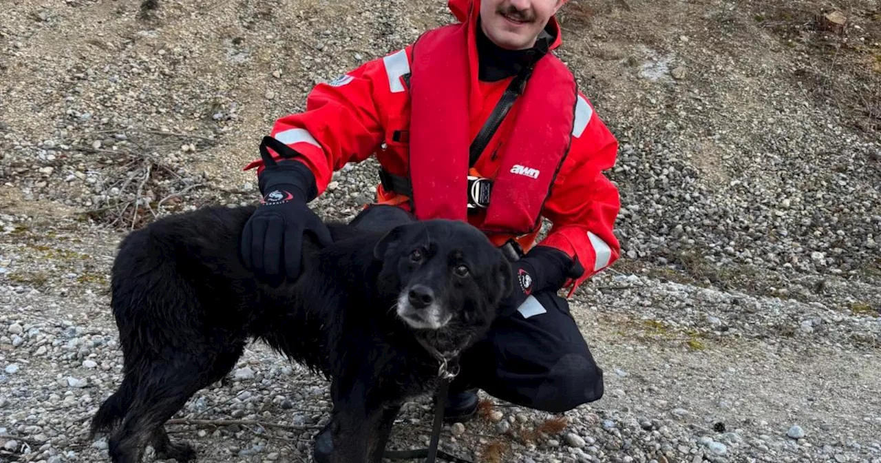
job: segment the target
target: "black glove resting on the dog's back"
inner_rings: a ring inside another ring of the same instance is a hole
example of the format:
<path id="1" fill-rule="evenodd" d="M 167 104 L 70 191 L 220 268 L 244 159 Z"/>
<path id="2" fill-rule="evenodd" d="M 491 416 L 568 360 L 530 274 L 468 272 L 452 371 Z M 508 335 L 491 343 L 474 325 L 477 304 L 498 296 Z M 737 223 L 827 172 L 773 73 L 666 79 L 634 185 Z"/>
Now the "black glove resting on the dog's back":
<path id="1" fill-rule="evenodd" d="M 333 243 L 324 222 L 307 203 L 317 196 L 315 175 L 300 161 L 276 162 L 269 145 L 283 157 L 297 155 L 275 138 L 265 137 L 260 146 L 263 171 L 258 183 L 263 198 L 241 235 L 244 265 L 276 286 L 285 278 L 300 276 L 303 235 L 311 233 L 321 246 Z"/>

